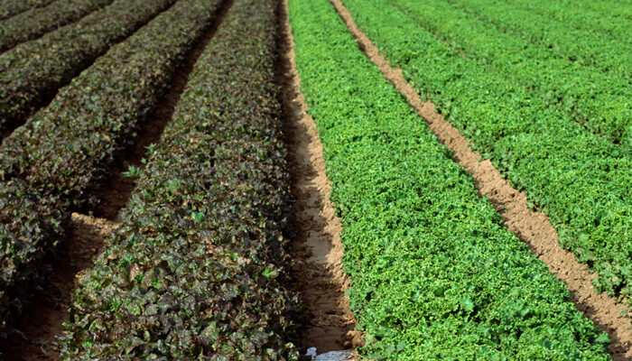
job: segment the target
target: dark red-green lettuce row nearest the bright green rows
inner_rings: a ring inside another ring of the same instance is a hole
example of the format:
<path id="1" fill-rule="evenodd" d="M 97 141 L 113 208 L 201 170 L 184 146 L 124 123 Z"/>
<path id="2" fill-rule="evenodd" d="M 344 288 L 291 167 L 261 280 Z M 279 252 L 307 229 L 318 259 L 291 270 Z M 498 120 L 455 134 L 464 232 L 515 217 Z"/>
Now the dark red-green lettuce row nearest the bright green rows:
<path id="1" fill-rule="evenodd" d="M 274 0 L 237 0 L 123 224 L 74 292 L 61 360 L 297 360 Z"/>

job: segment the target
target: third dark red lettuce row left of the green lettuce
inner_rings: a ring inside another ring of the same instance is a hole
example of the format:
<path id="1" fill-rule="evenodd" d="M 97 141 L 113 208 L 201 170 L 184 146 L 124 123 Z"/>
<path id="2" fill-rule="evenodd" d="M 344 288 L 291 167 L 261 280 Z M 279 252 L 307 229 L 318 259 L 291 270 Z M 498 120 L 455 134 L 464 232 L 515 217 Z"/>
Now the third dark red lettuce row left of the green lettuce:
<path id="1" fill-rule="evenodd" d="M 116 0 L 77 23 L 0 55 L 0 136 L 175 1 Z"/>

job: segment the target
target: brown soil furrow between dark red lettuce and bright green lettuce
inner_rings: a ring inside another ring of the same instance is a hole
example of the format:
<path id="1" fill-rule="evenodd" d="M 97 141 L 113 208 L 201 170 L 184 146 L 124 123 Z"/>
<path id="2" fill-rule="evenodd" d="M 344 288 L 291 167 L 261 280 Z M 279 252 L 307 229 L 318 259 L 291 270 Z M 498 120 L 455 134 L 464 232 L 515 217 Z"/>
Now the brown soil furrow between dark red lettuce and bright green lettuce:
<path id="1" fill-rule="evenodd" d="M 325 174 L 322 144 L 313 119 L 306 113 L 300 90 L 287 0 L 280 8 L 278 72 L 283 86 L 287 158 L 296 199 L 292 274 L 308 323 L 299 346 L 316 347 L 321 354 L 359 347 L 363 339 L 361 332 L 355 330 L 356 319 L 344 293 L 349 288 L 349 277 L 343 272 L 341 262 L 342 227 L 330 202 L 330 180 Z"/>

